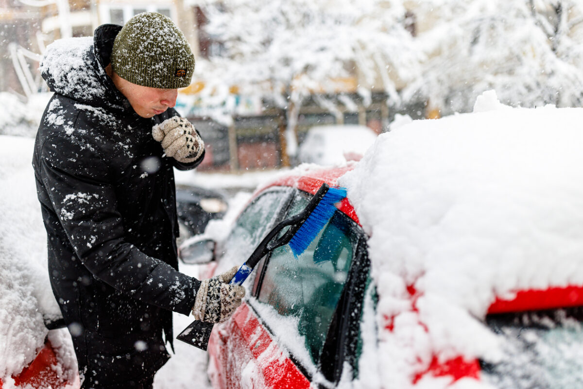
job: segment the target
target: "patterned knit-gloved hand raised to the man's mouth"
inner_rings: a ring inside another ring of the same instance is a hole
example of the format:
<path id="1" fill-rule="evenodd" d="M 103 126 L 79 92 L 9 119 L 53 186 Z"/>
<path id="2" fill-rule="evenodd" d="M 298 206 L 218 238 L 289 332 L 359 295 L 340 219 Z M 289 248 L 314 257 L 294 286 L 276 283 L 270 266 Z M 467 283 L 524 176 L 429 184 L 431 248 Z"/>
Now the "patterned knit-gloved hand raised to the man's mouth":
<path id="1" fill-rule="evenodd" d="M 185 118 L 173 116 L 152 127 L 152 136 L 162 143 L 164 153 L 178 162 L 188 164 L 201 157 L 205 143 Z"/>

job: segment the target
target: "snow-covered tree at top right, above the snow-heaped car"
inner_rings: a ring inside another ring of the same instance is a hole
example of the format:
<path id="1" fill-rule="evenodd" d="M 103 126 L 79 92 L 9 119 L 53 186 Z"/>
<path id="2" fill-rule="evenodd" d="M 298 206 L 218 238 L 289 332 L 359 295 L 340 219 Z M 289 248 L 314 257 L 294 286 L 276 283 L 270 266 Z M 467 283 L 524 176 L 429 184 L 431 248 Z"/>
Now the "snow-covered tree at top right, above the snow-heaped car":
<path id="1" fill-rule="evenodd" d="M 577 107 L 583 102 L 583 2 L 422 0 L 427 60 L 403 98 L 422 93 L 442 115 L 472 109 L 494 89 L 506 104 Z"/>

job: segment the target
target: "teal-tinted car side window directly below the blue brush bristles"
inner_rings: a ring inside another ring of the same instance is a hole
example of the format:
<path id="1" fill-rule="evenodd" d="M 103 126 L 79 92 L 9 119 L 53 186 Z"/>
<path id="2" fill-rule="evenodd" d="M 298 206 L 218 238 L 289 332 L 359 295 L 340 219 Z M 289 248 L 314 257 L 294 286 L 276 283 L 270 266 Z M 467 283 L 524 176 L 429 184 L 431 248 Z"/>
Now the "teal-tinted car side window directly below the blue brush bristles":
<path id="1" fill-rule="evenodd" d="M 296 197 L 289 215 L 297 214 L 307 203 L 307 197 Z M 336 211 L 297 259 L 289 246 L 282 246 L 273 250 L 265 268 L 258 300 L 282 316 L 293 317 L 314 363 L 321 356 L 356 250 L 358 238 L 352 224 Z"/>

